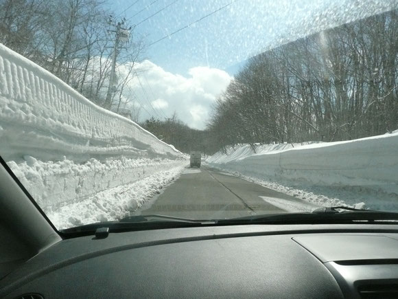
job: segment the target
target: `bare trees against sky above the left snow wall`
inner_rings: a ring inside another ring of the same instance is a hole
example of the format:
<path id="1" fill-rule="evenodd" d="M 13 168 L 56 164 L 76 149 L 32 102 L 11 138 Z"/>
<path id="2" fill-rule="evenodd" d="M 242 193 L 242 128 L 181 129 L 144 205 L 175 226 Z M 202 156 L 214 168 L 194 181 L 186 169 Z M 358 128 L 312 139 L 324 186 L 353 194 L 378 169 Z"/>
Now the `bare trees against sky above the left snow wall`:
<path id="1" fill-rule="evenodd" d="M 107 109 L 126 108 L 134 95 L 125 90 L 136 73 L 142 42 L 119 43 L 117 80 L 106 104 L 115 43 L 115 24 L 130 27 L 105 10 L 102 0 L 1 0 L 0 43 L 29 58 Z"/>

